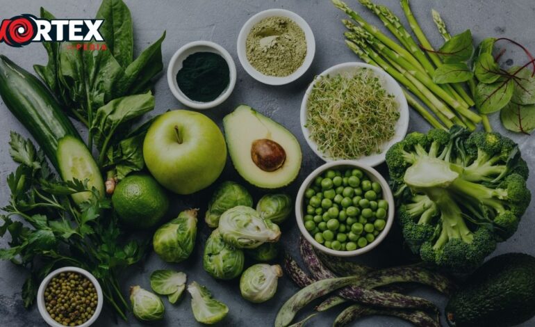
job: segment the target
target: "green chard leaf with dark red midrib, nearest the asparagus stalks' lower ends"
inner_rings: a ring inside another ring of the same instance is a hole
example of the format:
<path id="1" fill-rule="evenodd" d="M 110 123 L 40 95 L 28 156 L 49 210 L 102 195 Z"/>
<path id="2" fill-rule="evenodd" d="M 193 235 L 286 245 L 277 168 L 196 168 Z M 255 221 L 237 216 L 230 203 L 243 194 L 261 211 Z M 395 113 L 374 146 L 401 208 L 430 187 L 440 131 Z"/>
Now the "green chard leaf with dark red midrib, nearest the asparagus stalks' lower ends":
<path id="1" fill-rule="evenodd" d="M 500 111 L 513 97 L 513 82 L 479 83 L 475 89 L 475 105 L 480 113 Z"/>

